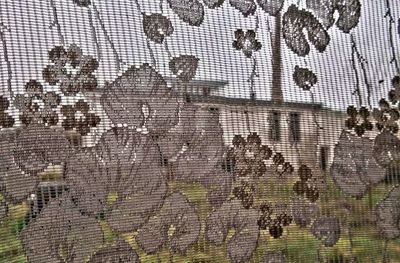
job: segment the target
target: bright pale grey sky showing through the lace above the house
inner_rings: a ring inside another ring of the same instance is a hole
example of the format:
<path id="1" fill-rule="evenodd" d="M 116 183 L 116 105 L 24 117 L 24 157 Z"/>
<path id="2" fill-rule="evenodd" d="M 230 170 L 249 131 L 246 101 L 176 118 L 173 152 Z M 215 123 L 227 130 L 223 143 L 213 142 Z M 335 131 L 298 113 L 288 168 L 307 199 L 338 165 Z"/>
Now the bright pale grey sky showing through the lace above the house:
<path id="1" fill-rule="evenodd" d="M 77 7 L 72 0 L 54 0 L 58 11 L 62 34 L 67 44 L 76 43 L 84 53 L 96 56 L 93 34 L 89 23 L 89 12 L 92 12 L 97 38 L 103 59 L 97 76 L 100 84 L 112 81 L 130 65 L 150 63 L 151 57 L 146 39 L 142 32 L 142 16 L 133 0 L 101 1 L 92 0 L 100 11 L 105 29 L 114 43 L 125 66 L 116 71 L 112 49 L 92 9 Z M 292 1 L 286 1 L 286 9 Z M 159 13 L 159 0 L 140 0 L 142 11 Z M 305 7 L 305 0 L 300 2 Z M 388 18 L 384 18 L 385 1 L 362 1 L 362 15 L 357 28 L 351 33 L 357 42 L 357 48 L 366 59 L 367 79 L 371 84 L 373 103 L 385 96 L 389 82 L 395 74 L 395 67 L 390 64 Z M 396 24 L 393 25 L 393 39 L 400 59 L 400 36 L 397 32 L 397 21 L 400 17 L 398 0 L 389 1 Z M 195 55 L 200 59 L 196 78 L 209 80 L 226 80 L 229 85 L 220 90 L 220 95 L 231 97 L 248 97 L 252 61 L 242 52 L 232 47 L 234 31 L 237 28 L 252 29 L 255 17 L 244 18 L 239 11 L 230 6 L 226 0 L 221 8 L 206 8 L 205 20 L 200 27 L 192 27 L 181 22 L 164 1 L 164 14 L 174 25 L 174 34 L 167 43 L 174 56 L 180 54 Z M 271 81 L 271 44 L 269 26 L 273 26 L 273 17 L 260 8 L 257 10 L 260 28 L 257 38 L 263 44 L 256 53 L 259 77 L 256 79 L 255 91 L 258 99 L 270 99 Z M 12 86 L 15 92 L 22 92 L 24 83 L 29 79 L 41 79 L 42 68 L 47 63 L 47 52 L 54 45 L 59 45 L 56 27 L 50 28 L 53 13 L 50 0 L 1 0 L 0 22 L 10 31 L 5 32 L 9 58 L 12 64 Z M 318 76 L 318 83 L 313 88 L 316 101 L 328 107 L 345 108 L 356 105 L 356 97 L 351 93 L 355 88 L 354 72 L 351 64 L 350 35 L 339 31 L 335 26 L 329 29 L 331 42 L 324 53 L 318 53 L 314 47 L 305 58 L 297 57 L 283 43 L 283 89 L 285 100 L 310 102 L 310 94 L 300 90 L 292 80 L 295 65 L 308 66 Z M 167 54 L 162 45 L 151 44 L 157 58 L 157 70 L 170 76 Z M 0 87 L 2 94 L 7 93 L 7 68 L 0 47 Z M 361 74 L 361 71 L 359 69 Z M 361 75 L 362 76 L 362 75 Z M 384 80 L 379 84 L 379 80 Z M 42 80 L 43 81 L 43 80 Z M 362 88 L 363 80 L 361 79 Z M 47 87 L 51 88 L 51 87 Z M 365 101 L 365 100 L 364 100 Z"/>

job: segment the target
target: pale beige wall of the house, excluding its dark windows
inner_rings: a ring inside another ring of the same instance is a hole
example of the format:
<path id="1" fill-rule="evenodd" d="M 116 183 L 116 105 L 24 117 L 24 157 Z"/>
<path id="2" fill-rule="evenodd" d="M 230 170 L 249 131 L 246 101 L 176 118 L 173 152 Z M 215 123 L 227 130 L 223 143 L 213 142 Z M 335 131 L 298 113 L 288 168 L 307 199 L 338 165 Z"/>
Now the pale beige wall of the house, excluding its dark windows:
<path id="1" fill-rule="evenodd" d="M 201 110 L 218 111 L 219 121 L 224 132 L 224 142 L 232 145 L 235 135 L 256 132 L 264 145 L 281 152 L 287 161 L 295 167 L 307 164 L 320 168 L 320 147 L 327 147 L 327 169 L 332 162 L 333 149 L 344 127 L 345 114 L 317 107 L 290 107 L 273 105 L 229 105 L 224 103 L 197 103 Z M 281 115 L 281 139 L 270 138 L 270 114 L 273 111 Z M 300 116 L 300 141 L 290 139 L 290 113 Z"/>

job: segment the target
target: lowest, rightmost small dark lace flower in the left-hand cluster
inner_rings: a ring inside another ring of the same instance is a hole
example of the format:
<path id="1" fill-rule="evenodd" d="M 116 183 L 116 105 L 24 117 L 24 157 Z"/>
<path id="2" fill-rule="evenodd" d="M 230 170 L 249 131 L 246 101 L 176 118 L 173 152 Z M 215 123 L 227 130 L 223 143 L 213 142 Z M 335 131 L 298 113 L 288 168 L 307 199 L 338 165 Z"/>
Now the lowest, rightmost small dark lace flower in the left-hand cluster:
<path id="1" fill-rule="evenodd" d="M 83 100 L 79 100 L 75 105 L 63 105 L 61 113 L 65 120 L 62 126 L 65 130 L 76 130 L 82 136 L 87 135 L 92 127 L 96 127 L 100 123 L 100 117 L 95 113 L 89 112 L 89 104 Z"/>

